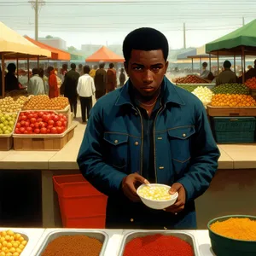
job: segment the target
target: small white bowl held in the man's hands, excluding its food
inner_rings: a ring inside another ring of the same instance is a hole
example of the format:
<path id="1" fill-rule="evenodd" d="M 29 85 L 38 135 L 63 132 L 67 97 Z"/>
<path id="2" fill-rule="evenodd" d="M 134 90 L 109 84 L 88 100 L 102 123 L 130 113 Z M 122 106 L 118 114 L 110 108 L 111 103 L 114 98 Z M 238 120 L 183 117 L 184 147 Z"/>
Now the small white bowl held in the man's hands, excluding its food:
<path id="1" fill-rule="evenodd" d="M 144 205 L 146 205 L 149 208 L 155 209 L 155 210 L 163 210 L 167 207 L 171 207 L 175 202 L 177 201 L 177 192 L 172 195 L 172 198 L 169 200 L 151 200 L 148 198 L 143 197 L 140 195 L 140 189 L 143 189 L 145 186 L 151 186 L 151 187 L 166 187 L 168 189 L 171 189 L 170 186 L 164 185 L 164 184 L 157 184 L 157 183 L 151 183 L 149 185 L 142 184 L 137 188 L 137 195 L 141 198 Z"/>

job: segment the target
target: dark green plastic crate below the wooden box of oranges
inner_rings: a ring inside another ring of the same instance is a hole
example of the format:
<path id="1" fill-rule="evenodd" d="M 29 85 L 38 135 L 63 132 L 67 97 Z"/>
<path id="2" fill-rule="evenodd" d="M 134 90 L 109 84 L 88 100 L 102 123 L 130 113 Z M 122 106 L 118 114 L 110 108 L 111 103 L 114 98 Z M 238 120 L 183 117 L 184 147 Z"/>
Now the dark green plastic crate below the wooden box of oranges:
<path id="1" fill-rule="evenodd" d="M 253 143 L 254 117 L 214 117 L 212 131 L 217 143 Z"/>

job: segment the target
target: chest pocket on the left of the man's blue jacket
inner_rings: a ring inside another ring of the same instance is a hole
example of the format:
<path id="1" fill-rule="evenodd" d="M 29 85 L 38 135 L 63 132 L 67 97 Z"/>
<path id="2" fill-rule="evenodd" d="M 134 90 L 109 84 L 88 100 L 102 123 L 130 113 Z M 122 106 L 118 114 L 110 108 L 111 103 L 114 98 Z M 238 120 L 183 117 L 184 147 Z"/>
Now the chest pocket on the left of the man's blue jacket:
<path id="1" fill-rule="evenodd" d="M 119 133 L 104 133 L 105 161 L 116 169 L 125 170 L 128 157 L 128 135 Z"/>

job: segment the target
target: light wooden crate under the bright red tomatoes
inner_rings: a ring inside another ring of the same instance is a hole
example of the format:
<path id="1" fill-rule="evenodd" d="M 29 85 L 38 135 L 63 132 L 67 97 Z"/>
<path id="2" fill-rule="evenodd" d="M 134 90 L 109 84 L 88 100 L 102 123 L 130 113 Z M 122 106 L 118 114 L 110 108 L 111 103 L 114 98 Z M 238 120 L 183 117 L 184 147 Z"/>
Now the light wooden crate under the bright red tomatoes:
<path id="1" fill-rule="evenodd" d="M 14 149 L 15 150 L 61 150 L 72 138 L 74 134 L 74 129 L 77 123 L 74 123 L 60 135 L 36 135 L 36 136 L 26 136 L 26 135 L 14 135 Z"/>

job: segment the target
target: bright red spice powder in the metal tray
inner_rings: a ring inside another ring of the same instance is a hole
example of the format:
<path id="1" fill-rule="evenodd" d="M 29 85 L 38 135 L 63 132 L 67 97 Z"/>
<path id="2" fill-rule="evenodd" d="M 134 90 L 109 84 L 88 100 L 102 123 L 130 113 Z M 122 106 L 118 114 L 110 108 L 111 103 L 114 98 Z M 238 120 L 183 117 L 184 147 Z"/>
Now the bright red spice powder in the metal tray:
<path id="1" fill-rule="evenodd" d="M 137 237 L 125 246 L 124 256 L 194 256 L 187 241 L 176 236 Z"/>

